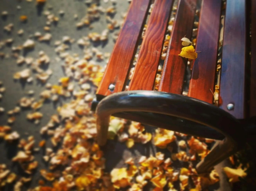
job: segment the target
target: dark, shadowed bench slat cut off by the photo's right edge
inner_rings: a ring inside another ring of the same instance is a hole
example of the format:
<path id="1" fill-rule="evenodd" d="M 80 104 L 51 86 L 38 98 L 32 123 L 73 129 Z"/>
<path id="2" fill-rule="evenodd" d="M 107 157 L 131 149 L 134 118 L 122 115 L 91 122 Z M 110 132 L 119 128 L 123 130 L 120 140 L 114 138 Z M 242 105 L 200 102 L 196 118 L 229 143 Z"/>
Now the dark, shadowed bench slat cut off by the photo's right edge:
<path id="1" fill-rule="evenodd" d="M 250 117 L 256 116 L 256 1 L 251 1 Z"/>

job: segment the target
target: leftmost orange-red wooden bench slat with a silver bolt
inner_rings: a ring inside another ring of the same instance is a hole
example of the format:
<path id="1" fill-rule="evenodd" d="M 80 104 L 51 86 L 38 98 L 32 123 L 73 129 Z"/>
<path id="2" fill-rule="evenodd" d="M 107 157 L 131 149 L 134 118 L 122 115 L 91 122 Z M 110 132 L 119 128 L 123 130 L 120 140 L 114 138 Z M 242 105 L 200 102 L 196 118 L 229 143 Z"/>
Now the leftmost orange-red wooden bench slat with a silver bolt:
<path id="1" fill-rule="evenodd" d="M 115 47 L 107 64 L 103 79 L 96 92 L 98 97 L 120 92 L 126 85 L 126 78 L 134 59 L 134 54 L 141 37 L 150 0 L 133 0 L 130 5 L 124 26 L 120 31 Z M 115 85 L 110 91 L 109 85 Z"/>

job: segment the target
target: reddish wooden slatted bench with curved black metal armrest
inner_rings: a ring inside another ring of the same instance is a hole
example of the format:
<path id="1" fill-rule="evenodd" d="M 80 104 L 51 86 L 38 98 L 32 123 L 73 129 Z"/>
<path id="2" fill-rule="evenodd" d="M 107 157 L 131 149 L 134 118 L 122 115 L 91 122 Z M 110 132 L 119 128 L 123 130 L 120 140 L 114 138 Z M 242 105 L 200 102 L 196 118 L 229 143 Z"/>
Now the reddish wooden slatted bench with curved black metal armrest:
<path id="1" fill-rule="evenodd" d="M 256 3 L 251 1 L 251 64 L 249 1 L 227 0 L 224 24 L 219 107 L 213 105 L 222 0 L 203 0 L 188 96 L 183 84 L 188 59 L 178 56 L 181 39 L 191 39 L 196 0 L 179 0 L 158 91 L 152 91 L 174 0 L 155 0 L 128 91 L 124 91 L 148 14 L 150 0 L 133 0 L 92 103 L 98 143 L 107 140 L 109 117 L 220 140 L 197 165 L 209 171 L 246 143 L 241 121 L 256 115 Z M 254 36 L 255 35 L 255 36 Z M 251 68 L 249 68 L 251 67 Z M 249 100 L 249 102 L 248 102 Z"/>

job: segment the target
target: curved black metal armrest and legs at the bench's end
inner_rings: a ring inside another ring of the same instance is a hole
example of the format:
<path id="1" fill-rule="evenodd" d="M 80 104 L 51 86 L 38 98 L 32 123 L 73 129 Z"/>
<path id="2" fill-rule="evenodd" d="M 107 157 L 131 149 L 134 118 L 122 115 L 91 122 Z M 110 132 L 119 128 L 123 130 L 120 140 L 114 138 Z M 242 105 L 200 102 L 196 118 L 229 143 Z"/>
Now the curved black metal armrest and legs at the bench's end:
<path id="1" fill-rule="evenodd" d="M 239 121 L 228 112 L 212 104 L 178 95 L 157 91 L 125 91 L 114 93 L 101 100 L 96 108 L 98 144 L 107 141 L 109 117 L 122 112 L 150 112 L 169 115 L 204 125 L 205 137 L 212 133 L 209 129 L 223 134 L 226 138 L 216 145 L 197 165 L 199 173 L 210 170 L 214 165 L 229 157 L 237 150 L 237 145 L 245 143 L 244 129 Z M 189 125 L 188 125 L 189 126 Z M 196 128 L 193 128 L 195 130 Z M 172 130 L 172 129 L 170 129 Z M 177 129 L 176 129 L 177 130 Z M 191 130 L 183 129 L 183 132 Z"/>

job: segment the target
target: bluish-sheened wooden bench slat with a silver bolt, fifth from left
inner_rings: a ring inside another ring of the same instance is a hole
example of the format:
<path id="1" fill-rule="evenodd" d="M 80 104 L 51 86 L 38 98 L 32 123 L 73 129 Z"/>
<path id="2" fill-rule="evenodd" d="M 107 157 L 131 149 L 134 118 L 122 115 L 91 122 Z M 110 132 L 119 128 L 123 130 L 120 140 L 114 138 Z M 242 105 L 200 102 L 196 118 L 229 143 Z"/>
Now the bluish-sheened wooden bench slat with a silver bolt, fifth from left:
<path id="1" fill-rule="evenodd" d="M 222 109 L 245 117 L 246 0 L 227 0 L 224 25 L 220 99 Z M 233 110 L 227 105 L 234 104 Z"/>

